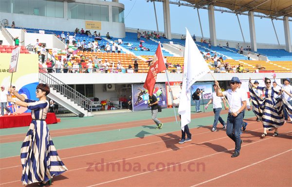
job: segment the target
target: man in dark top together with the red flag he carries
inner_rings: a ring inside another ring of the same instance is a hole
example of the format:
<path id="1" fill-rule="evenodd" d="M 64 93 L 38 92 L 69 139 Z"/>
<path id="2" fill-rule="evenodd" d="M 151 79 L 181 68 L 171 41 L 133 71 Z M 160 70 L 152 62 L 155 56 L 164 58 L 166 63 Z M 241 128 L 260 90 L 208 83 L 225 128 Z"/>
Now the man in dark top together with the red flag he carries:
<path id="1" fill-rule="evenodd" d="M 158 44 L 157 50 L 154 54 L 153 60 L 150 63 L 149 71 L 145 80 L 144 87 L 148 90 L 149 93 L 149 102 L 148 107 L 151 107 L 151 114 L 152 119 L 157 125 L 157 129 L 161 129 L 163 123 L 161 123 L 157 119 L 157 113 L 158 113 L 158 101 L 157 98 L 153 95 L 154 86 L 156 83 L 156 77 L 157 73 L 160 73 L 161 71 L 166 70 L 163 55 L 160 47 L 160 43 Z"/>

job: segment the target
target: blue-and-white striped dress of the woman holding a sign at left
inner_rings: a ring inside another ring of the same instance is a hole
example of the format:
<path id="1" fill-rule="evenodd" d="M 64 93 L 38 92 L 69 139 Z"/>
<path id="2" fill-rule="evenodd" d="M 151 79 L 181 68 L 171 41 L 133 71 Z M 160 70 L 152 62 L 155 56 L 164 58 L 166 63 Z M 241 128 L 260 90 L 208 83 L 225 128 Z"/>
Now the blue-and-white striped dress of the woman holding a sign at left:
<path id="1" fill-rule="evenodd" d="M 28 109 L 32 110 L 32 122 L 22 143 L 20 158 L 23 185 L 48 181 L 53 176 L 68 170 L 56 152 L 46 124 L 49 109 L 48 101 L 26 99 Z"/>

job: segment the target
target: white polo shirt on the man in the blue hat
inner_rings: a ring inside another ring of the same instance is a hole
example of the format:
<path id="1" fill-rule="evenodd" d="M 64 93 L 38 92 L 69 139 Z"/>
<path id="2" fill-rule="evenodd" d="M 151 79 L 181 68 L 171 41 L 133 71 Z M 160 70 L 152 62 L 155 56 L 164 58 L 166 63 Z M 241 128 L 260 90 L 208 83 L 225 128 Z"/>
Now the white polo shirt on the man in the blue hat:
<path id="1" fill-rule="evenodd" d="M 235 91 L 231 89 L 223 91 L 222 94 L 230 104 L 229 112 L 237 112 L 241 108 L 242 102 L 246 101 L 246 97 L 244 97 L 244 94 L 242 94 L 242 91 L 238 88 Z"/>

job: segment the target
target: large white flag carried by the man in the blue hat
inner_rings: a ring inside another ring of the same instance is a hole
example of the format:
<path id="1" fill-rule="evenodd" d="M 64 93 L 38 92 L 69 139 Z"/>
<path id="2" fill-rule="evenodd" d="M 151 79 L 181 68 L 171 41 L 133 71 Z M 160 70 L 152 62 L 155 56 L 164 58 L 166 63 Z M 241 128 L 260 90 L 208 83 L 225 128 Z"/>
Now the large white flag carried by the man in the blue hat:
<path id="1" fill-rule="evenodd" d="M 187 29 L 183 63 L 183 87 L 180 96 L 179 114 L 181 115 L 181 127 L 184 131 L 184 126 L 191 122 L 191 86 L 210 72 L 206 61 Z"/>

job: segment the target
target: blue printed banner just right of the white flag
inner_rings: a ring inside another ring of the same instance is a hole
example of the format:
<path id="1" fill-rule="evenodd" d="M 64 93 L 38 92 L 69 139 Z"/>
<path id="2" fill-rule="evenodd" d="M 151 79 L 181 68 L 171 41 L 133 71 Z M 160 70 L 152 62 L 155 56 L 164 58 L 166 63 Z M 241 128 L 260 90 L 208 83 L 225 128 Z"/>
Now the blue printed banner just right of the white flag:
<path id="1" fill-rule="evenodd" d="M 198 83 L 198 84 L 195 83 L 194 85 L 191 86 L 191 96 L 196 92 L 197 88 L 203 91 L 200 96 L 200 100 L 201 101 L 204 100 L 204 103 L 209 102 L 209 100 L 211 99 L 212 92 L 213 92 L 213 83 L 212 82 Z M 191 105 L 196 105 L 194 100 L 191 100 Z"/>

